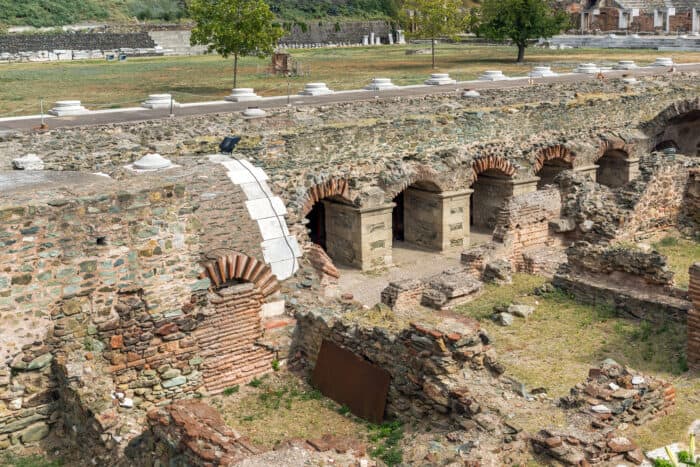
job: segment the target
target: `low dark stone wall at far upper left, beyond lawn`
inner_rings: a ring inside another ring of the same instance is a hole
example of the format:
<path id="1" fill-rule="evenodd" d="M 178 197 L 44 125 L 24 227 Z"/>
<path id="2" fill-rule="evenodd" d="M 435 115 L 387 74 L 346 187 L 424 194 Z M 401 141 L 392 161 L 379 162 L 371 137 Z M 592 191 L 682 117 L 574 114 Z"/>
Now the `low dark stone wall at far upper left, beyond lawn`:
<path id="1" fill-rule="evenodd" d="M 148 33 L 58 33 L 0 35 L 0 53 L 40 50 L 115 50 L 155 47 Z"/>

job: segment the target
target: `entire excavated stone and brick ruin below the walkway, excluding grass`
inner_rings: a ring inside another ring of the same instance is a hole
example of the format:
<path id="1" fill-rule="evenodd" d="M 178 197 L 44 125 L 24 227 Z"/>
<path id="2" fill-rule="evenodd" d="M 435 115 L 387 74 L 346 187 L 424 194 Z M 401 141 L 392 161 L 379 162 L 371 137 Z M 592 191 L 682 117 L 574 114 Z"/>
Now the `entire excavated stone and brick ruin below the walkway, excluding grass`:
<path id="1" fill-rule="evenodd" d="M 510 374 L 482 312 L 455 310 L 546 277 L 581 306 L 682 326 L 692 384 L 700 258 L 681 285 L 645 242 L 697 242 L 698 91 L 674 74 L 0 134 L 0 450 L 382 463 L 334 433 L 275 454 L 213 402 L 280 366 L 303 378 L 327 341 L 388 373 L 380 415 L 415 430 L 404 462 L 640 464 L 626 427 L 675 416 L 675 381 L 601 358 L 555 400 Z M 406 249 L 441 259 L 388 278 Z M 503 325 L 534 309 L 496 308 Z M 518 421 L 535 412 L 552 423 Z"/>

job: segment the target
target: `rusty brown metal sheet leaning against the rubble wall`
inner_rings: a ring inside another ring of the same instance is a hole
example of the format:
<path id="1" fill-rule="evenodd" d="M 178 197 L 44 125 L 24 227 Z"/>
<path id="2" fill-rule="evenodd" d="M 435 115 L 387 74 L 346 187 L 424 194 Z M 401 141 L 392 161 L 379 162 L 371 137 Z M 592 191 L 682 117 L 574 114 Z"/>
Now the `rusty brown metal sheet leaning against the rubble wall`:
<path id="1" fill-rule="evenodd" d="M 325 396 L 373 423 L 384 419 L 389 372 L 337 344 L 323 340 L 312 384 Z"/>

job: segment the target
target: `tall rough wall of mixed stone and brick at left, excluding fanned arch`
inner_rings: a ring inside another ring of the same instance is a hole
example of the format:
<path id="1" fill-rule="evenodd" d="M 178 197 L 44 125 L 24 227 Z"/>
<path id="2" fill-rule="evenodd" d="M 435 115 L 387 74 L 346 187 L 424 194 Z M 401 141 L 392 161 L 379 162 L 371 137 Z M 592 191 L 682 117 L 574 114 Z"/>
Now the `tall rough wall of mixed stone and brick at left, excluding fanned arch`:
<path id="1" fill-rule="evenodd" d="M 240 285 L 206 295 L 207 252 L 262 256 L 244 194 L 218 167 L 134 175 L 131 191 L 80 175 L 49 192 L 5 193 L 0 446 L 34 441 L 55 422 L 50 363 L 65 348 L 103 356 L 112 388 L 146 405 L 269 370 L 271 354 L 255 344 L 261 291 Z M 186 188 L 178 176 L 192 182 Z"/>

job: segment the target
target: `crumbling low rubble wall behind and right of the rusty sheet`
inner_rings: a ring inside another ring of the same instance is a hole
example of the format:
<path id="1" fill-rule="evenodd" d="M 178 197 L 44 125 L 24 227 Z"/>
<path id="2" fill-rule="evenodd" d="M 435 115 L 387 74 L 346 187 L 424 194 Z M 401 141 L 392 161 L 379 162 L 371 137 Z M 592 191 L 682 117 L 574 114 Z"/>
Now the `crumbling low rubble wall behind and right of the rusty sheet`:
<path id="1" fill-rule="evenodd" d="M 294 349 L 311 367 L 327 339 L 390 373 L 390 416 L 437 423 L 447 417 L 456 425 L 488 412 L 471 385 L 496 384 L 493 374 L 503 367 L 476 321 L 445 318 L 439 326 L 412 323 L 392 331 L 344 321 L 330 310 L 302 310 L 296 317 Z"/>

